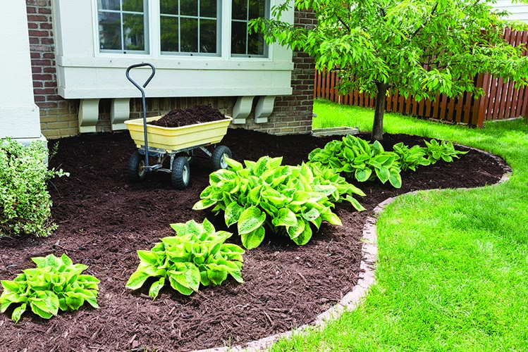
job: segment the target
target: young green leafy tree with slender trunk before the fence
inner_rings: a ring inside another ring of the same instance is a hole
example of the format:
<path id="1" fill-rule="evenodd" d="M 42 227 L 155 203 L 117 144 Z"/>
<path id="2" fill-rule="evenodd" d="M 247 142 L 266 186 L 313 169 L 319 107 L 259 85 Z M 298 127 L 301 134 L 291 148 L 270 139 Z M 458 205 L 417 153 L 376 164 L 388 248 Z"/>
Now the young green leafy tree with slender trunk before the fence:
<path id="1" fill-rule="evenodd" d="M 522 0 L 527 1 L 527 0 Z M 286 0 L 269 19 L 259 18 L 251 30 L 315 58 L 318 70 L 338 70 L 338 89 L 376 95 L 373 139 L 383 137 L 387 89 L 397 88 L 416 100 L 436 94 L 482 94 L 474 86 L 479 73 L 528 84 L 525 46 L 503 39 L 508 22 L 489 0 Z M 295 6 L 311 9 L 317 25 L 309 28 L 281 21 Z"/>

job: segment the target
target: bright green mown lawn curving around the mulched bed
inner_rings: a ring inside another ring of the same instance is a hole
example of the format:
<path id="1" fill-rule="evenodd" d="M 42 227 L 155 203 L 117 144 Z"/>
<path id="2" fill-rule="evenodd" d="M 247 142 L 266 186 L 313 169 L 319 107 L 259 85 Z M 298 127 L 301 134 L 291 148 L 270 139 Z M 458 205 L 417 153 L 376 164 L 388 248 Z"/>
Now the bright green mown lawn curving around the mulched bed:
<path id="1" fill-rule="evenodd" d="M 371 130 L 373 111 L 316 101 L 327 120 Z M 484 129 L 386 114 L 384 130 L 498 154 L 503 184 L 420 191 L 380 215 L 376 284 L 357 310 L 270 351 L 528 351 L 528 122 Z"/>

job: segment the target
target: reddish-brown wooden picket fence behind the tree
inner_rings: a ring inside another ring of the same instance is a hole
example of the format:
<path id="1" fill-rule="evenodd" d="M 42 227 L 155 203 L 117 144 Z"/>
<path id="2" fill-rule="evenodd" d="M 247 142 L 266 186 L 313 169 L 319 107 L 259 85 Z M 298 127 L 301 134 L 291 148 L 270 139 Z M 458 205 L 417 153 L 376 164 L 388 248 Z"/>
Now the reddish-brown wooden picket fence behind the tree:
<path id="1" fill-rule="evenodd" d="M 528 43 L 528 32 L 508 29 L 504 37 L 514 46 Z M 359 92 L 339 94 L 335 89 L 337 80 L 335 72 L 316 73 L 314 98 L 374 108 L 375 96 L 371 97 Z M 518 89 L 514 87 L 513 82 L 489 74 L 477 75 L 475 84 L 484 89 L 484 96 L 478 99 L 474 99 L 468 93 L 457 98 L 440 94 L 434 101 L 424 99 L 418 102 L 411 96 L 405 99 L 405 96 L 398 94 L 398 89 L 393 89 L 386 98 L 386 111 L 478 127 L 482 127 L 488 120 L 504 120 L 520 116 L 527 118 L 528 87 Z"/>

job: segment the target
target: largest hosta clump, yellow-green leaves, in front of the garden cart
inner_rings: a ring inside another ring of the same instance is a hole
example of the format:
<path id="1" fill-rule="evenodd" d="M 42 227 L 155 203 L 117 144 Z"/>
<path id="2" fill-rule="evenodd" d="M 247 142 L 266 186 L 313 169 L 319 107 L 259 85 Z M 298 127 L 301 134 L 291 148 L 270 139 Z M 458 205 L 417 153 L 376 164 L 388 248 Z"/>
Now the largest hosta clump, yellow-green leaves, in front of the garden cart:
<path id="1" fill-rule="evenodd" d="M 269 156 L 245 161 L 245 165 L 233 159 L 227 163 L 228 169 L 209 175 L 209 186 L 193 208 L 214 206 L 214 213 L 223 211 L 226 225 L 237 224 L 247 249 L 262 243 L 266 229 L 302 245 L 312 237 L 310 224 L 317 229 L 324 220 L 341 225 L 331 211 L 335 201 L 350 201 L 362 210 L 352 194 L 364 193 L 317 165 L 281 165 L 282 158 Z"/>

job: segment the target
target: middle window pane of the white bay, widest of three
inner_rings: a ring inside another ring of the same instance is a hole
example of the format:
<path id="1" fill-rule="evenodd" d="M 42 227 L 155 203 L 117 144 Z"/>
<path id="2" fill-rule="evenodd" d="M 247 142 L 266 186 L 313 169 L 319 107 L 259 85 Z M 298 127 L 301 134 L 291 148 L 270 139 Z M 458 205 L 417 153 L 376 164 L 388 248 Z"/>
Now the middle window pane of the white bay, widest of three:
<path id="1" fill-rule="evenodd" d="M 220 0 L 160 0 L 162 54 L 220 54 Z"/>

